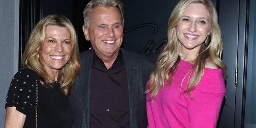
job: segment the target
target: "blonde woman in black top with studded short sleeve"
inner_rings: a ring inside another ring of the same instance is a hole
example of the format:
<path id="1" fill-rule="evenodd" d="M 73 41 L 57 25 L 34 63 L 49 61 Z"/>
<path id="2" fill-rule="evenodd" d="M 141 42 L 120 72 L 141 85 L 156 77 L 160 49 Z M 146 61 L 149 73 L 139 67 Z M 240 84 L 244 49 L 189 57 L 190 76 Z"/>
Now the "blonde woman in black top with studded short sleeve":
<path id="1" fill-rule="evenodd" d="M 22 64 L 25 68 L 15 74 L 8 90 L 5 128 L 69 128 L 74 117 L 68 96 L 80 71 L 76 32 L 70 20 L 58 15 L 40 20 Z"/>

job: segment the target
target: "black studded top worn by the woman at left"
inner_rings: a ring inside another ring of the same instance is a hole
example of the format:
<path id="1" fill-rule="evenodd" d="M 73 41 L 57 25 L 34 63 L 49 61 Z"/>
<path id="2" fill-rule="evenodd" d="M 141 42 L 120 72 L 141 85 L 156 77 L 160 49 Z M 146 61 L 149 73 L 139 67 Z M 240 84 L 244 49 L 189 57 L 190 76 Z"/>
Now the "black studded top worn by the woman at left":
<path id="1" fill-rule="evenodd" d="M 15 106 L 26 115 L 23 128 L 35 127 L 35 92 L 38 74 L 30 68 L 17 72 L 10 84 L 6 107 Z M 38 128 L 70 128 L 74 121 L 68 96 L 60 90 L 60 84 L 45 88 L 38 81 Z"/>

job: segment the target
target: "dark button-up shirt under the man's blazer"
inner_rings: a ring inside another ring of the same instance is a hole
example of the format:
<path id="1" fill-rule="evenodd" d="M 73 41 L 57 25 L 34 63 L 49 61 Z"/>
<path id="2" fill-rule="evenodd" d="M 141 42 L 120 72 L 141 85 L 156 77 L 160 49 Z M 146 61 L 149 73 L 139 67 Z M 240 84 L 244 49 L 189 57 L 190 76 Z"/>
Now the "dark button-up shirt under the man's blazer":
<path id="1" fill-rule="evenodd" d="M 119 50 L 112 67 L 95 54 L 90 86 L 91 128 L 129 128 L 130 111 L 124 57 Z"/>

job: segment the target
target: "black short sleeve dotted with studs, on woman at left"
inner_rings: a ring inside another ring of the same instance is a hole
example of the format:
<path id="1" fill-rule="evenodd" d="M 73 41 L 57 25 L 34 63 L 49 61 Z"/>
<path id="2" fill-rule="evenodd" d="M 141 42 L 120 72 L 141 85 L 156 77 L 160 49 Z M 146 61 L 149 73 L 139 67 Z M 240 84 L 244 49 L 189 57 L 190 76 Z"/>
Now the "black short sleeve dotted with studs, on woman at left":
<path id="1" fill-rule="evenodd" d="M 10 84 L 6 105 L 16 107 L 16 110 L 27 115 L 32 104 L 35 104 L 37 74 L 30 68 L 19 70 Z"/>

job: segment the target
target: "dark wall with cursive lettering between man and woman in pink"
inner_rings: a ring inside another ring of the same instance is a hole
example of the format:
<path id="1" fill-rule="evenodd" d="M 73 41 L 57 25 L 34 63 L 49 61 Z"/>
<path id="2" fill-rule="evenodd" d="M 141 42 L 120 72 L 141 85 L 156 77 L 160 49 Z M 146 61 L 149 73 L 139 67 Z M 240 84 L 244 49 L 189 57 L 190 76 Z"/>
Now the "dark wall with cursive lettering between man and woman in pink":
<path id="1" fill-rule="evenodd" d="M 124 49 L 156 62 L 167 41 L 168 19 L 178 0 L 122 0 L 125 8 Z M 129 30 L 130 28 L 133 28 Z"/>

